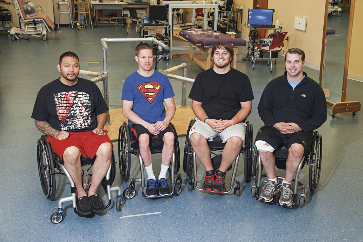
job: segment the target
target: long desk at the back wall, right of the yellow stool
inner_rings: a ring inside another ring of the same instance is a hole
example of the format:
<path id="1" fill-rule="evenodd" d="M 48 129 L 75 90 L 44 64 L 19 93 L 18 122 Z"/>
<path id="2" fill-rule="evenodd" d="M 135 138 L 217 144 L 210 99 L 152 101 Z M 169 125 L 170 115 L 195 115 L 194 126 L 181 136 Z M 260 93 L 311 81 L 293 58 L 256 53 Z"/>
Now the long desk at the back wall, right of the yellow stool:
<path id="1" fill-rule="evenodd" d="M 90 3 L 93 5 L 93 9 L 94 9 L 94 16 L 95 16 L 95 20 L 94 23 L 95 25 L 98 25 L 98 11 L 96 10 L 121 10 L 121 17 L 117 17 L 118 19 L 122 18 L 122 27 L 124 27 L 123 24 L 123 9 L 124 8 L 143 8 L 146 11 L 146 16 L 148 17 L 149 15 L 149 3 L 127 3 L 127 2 L 123 2 L 123 1 L 119 1 L 118 3 L 116 2 L 111 2 L 111 3 L 99 3 L 98 1 L 90 1 Z"/>

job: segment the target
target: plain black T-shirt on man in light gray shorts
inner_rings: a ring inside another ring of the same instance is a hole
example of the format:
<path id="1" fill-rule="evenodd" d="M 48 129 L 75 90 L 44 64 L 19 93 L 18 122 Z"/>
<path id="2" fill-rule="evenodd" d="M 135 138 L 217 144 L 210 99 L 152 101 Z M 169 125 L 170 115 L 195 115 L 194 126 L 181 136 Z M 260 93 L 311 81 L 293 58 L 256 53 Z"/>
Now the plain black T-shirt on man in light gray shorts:
<path id="1" fill-rule="evenodd" d="M 217 74 L 213 68 L 199 73 L 189 98 L 201 102 L 209 118 L 222 120 L 231 120 L 241 102 L 254 99 L 248 76 L 233 68 L 225 74 Z"/>

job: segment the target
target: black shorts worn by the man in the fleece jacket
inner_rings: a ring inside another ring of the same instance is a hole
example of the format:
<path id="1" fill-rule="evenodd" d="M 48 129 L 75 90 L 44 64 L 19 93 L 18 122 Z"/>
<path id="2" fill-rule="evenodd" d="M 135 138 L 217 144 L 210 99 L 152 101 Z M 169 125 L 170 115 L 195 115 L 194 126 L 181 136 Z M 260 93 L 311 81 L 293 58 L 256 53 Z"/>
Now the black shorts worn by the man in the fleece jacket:
<path id="1" fill-rule="evenodd" d="M 293 134 L 282 134 L 278 129 L 269 126 L 263 126 L 257 133 L 256 140 L 262 140 L 271 145 L 275 150 L 283 146 L 290 148 L 292 144 L 301 144 L 304 146 L 304 154 L 310 151 L 313 142 L 313 131 L 299 131 Z"/>

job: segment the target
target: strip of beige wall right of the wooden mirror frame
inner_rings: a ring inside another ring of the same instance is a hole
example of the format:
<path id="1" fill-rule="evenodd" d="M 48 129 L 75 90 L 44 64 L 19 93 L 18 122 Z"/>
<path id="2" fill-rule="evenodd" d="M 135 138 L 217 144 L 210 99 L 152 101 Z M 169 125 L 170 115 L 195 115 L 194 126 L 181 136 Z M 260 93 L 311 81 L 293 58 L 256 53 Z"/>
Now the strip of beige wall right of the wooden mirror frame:
<path id="1" fill-rule="evenodd" d="M 360 29 L 361 24 L 363 23 L 363 1 L 356 0 L 355 1 L 355 11 L 354 11 L 354 19 L 353 19 L 353 30 L 352 30 L 352 41 L 350 46 L 350 56 L 349 56 L 349 68 L 348 73 L 354 76 L 348 76 L 349 78 L 356 80 L 363 80 L 363 68 L 361 64 L 362 60 L 362 39 L 363 32 Z"/>

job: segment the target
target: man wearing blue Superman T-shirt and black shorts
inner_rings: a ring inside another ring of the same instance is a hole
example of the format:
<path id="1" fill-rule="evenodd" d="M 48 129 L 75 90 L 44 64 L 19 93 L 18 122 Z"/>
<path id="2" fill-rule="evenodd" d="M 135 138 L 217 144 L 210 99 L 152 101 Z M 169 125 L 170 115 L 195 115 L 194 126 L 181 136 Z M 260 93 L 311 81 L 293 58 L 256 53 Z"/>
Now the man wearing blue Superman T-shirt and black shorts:
<path id="1" fill-rule="evenodd" d="M 136 46 L 135 60 L 139 69 L 126 77 L 122 88 L 123 116 L 129 119 L 132 133 L 139 142 L 140 155 L 147 173 L 146 196 L 170 194 L 166 180 L 174 152 L 174 133 L 169 122 L 175 114 L 174 92 L 166 75 L 152 69 L 152 46 Z M 167 110 L 164 108 L 165 102 Z M 158 179 L 152 171 L 150 141 L 164 141 Z"/>

